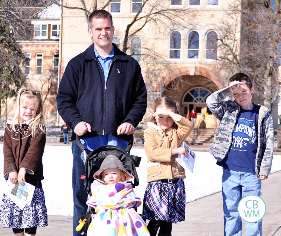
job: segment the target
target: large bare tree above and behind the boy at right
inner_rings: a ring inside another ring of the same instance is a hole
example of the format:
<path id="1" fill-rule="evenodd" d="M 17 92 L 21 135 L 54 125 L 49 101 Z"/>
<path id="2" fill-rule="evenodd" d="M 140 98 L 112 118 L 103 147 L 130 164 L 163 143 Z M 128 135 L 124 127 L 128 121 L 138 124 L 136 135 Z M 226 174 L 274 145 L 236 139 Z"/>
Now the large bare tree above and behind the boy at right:
<path id="1" fill-rule="evenodd" d="M 237 0 L 227 14 L 218 39 L 219 71 L 228 78 L 235 72 L 250 75 L 255 102 L 271 108 L 280 90 L 280 0 Z"/>

